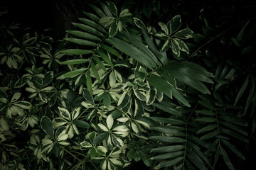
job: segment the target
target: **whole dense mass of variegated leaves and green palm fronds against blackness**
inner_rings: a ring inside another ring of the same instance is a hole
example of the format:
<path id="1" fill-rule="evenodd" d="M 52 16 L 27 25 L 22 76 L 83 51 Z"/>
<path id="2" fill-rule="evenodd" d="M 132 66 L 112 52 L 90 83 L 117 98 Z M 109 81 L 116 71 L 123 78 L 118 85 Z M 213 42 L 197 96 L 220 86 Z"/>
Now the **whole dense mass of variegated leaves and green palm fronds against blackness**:
<path id="1" fill-rule="evenodd" d="M 255 111 L 252 73 L 225 91 L 242 69 L 183 60 L 201 51 L 180 15 L 150 26 L 111 1 L 90 8 L 56 49 L 49 37 L 18 41 L 6 30 L 0 168 L 236 169 L 249 142 L 242 115 Z"/>

